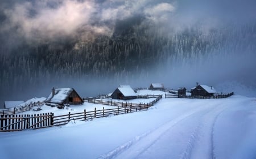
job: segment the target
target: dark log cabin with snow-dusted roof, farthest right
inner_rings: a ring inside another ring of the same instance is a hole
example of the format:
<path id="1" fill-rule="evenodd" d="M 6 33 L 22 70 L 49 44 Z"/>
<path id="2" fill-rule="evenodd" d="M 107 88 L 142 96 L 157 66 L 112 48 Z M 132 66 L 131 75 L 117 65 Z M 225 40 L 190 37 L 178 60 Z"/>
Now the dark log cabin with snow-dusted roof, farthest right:
<path id="1" fill-rule="evenodd" d="M 191 89 L 191 96 L 213 96 L 214 93 L 217 93 L 216 90 L 207 85 L 200 84 Z"/>

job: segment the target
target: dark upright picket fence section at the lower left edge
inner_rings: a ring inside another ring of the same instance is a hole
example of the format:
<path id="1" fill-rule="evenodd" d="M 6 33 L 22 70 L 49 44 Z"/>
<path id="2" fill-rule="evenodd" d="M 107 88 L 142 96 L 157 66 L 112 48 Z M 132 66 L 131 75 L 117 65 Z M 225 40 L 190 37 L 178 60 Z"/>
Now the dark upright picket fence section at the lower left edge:
<path id="1" fill-rule="evenodd" d="M 20 131 L 50 127 L 53 124 L 52 113 L 34 115 L 1 115 L 0 131 Z"/>

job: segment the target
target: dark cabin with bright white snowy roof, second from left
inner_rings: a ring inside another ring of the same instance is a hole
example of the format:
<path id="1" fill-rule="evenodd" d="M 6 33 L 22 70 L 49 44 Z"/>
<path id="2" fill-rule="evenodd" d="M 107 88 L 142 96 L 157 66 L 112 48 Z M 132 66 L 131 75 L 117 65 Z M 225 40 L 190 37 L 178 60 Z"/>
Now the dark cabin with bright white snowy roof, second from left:
<path id="1" fill-rule="evenodd" d="M 130 85 L 119 85 L 111 94 L 113 99 L 131 100 L 137 98 L 137 94 L 131 89 Z"/>

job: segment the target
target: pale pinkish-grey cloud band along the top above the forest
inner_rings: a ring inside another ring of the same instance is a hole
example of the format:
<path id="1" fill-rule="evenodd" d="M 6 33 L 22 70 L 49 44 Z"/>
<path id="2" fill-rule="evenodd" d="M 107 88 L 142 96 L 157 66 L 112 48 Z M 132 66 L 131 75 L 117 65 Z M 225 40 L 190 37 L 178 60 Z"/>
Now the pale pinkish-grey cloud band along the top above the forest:
<path id="1" fill-rule="evenodd" d="M 255 2 L 247 1 L 3 0 L 0 14 L 3 12 L 5 21 L 0 33 L 15 33 L 27 42 L 38 44 L 60 38 L 86 41 L 97 35 L 112 36 L 116 23 L 133 16 L 142 16 L 169 32 L 182 31 L 199 23 L 210 29 L 227 19 L 239 21 L 246 19 L 245 15 L 255 17 L 251 7 Z"/>

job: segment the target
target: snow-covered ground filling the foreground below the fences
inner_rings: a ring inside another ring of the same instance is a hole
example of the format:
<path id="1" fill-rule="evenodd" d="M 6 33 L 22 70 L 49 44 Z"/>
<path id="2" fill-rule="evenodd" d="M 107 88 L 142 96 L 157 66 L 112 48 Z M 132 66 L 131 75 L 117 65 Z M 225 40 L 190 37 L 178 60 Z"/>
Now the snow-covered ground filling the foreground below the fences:
<path id="1" fill-rule="evenodd" d="M 0 158 L 255 158 L 255 134 L 256 98 L 163 98 L 148 111 L 1 132 Z"/>

